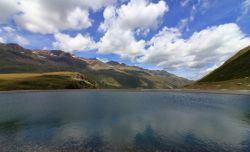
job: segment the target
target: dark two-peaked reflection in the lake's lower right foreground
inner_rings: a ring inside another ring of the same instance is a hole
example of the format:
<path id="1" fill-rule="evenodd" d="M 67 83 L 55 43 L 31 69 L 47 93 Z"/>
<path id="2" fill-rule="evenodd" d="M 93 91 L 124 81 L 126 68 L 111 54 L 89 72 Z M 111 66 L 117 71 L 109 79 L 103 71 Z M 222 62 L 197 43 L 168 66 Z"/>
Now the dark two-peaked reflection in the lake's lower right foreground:
<path id="1" fill-rule="evenodd" d="M 219 145 L 213 141 L 203 141 L 189 133 L 183 136 L 179 141 L 173 141 L 159 135 L 151 127 L 147 127 L 143 133 L 138 133 L 135 137 L 136 151 L 185 151 L 185 152 L 227 152 L 237 151 L 236 148 L 229 145 Z"/>

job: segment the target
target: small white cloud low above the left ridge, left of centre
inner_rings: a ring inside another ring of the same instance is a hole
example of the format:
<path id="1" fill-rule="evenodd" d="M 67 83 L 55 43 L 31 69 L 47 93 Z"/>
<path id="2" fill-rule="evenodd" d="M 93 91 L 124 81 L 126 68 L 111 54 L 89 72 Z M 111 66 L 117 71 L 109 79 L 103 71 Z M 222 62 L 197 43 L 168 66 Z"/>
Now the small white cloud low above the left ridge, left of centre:
<path id="1" fill-rule="evenodd" d="M 56 41 L 53 43 L 53 47 L 63 51 L 85 51 L 95 47 L 94 41 L 89 36 L 83 36 L 82 34 L 71 37 L 67 34 L 57 33 L 54 37 Z"/>

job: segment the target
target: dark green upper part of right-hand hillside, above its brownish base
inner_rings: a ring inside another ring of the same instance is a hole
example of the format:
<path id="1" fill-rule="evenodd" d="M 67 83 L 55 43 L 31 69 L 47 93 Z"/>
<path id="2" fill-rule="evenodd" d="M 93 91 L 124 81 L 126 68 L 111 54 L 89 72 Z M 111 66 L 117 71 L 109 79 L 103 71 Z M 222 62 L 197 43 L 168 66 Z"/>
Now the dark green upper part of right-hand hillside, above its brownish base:
<path id="1" fill-rule="evenodd" d="M 208 74 L 199 82 L 218 82 L 243 79 L 250 76 L 250 46 L 240 50 L 221 67 Z"/>

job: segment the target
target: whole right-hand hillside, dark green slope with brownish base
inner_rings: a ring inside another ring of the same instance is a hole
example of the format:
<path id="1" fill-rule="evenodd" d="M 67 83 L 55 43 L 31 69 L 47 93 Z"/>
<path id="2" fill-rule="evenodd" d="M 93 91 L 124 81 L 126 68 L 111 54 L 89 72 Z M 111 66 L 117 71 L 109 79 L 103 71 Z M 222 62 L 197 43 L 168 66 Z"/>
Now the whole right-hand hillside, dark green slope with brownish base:
<path id="1" fill-rule="evenodd" d="M 250 90 L 250 46 L 187 88 Z"/>

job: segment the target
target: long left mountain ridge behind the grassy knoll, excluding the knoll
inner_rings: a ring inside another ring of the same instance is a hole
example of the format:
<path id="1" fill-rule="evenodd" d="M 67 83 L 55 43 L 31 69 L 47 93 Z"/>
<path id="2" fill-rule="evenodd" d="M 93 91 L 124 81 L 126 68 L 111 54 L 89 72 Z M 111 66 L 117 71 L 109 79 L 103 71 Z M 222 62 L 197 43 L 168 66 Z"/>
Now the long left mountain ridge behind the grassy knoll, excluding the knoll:
<path id="1" fill-rule="evenodd" d="M 97 59 L 79 58 L 61 50 L 29 50 L 18 44 L 0 44 L 0 73 L 79 72 L 97 88 L 179 88 L 192 83 L 166 71 Z M 1 83 L 1 81 L 0 81 Z"/>

